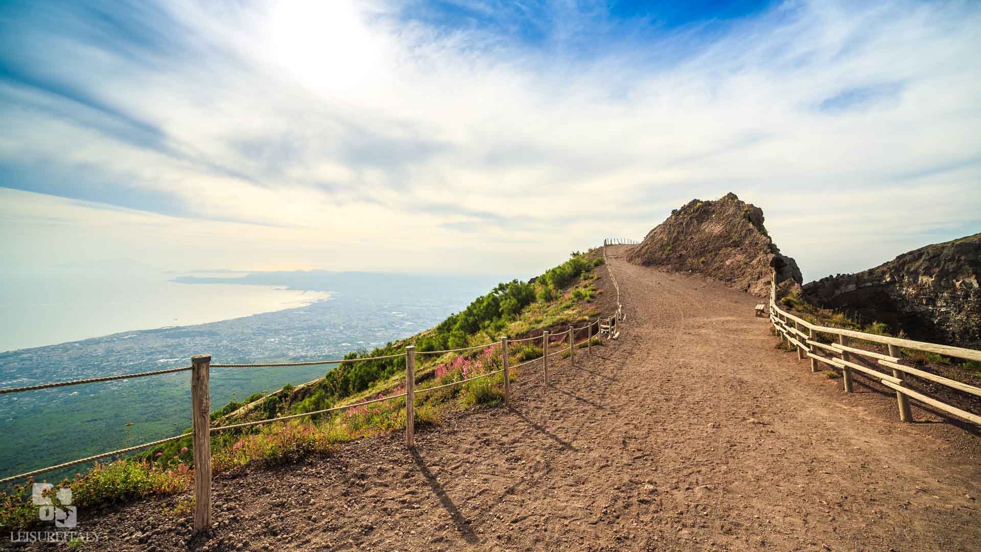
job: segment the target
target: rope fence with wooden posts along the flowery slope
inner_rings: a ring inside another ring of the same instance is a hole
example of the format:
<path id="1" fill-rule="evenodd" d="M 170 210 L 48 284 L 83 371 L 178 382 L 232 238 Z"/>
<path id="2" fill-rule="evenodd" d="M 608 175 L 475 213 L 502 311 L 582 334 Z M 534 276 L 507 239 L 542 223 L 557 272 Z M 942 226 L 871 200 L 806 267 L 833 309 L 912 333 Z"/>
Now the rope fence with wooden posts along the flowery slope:
<path id="1" fill-rule="evenodd" d="M 626 243 L 626 241 L 622 241 Z M 603 258 L 605 260 L 605 246 L 607 241 L 604 241 Z M 455 385 L 465 384 L 470 381 L 475 381 L 482 378 L 487 378 L 495 374 L 503 373 L 503 383 L 504 383 L 504 404 L 509 406 L 511 403 L 511 392 L 510 392 L 510 370 L 515 368 L 520 368 L 526 366 L 533 362 L 539 360 L 542 361 L 542 367 L 544 368 L 544 382 L 548 384 L 548 365 L 549 359 L 555 355 L 561 355 L 568 353 L 570 363 L 572 366 L 576 365 L 576 349 L 581 348 L 583 344 L 586 344 L 589 348 L 589 353 L 592 353 L 592 346 L 594 338 L 599 338 L 600 340 L 605 336 L 607 339 L 613 339 L 617 335 L 617 320 L 621 316 L 621 305 L 620 305 L 620 290 L 616 283 L 613 274 L 609 272 L 611 280 L 613 281 L 614 288 L 617 290 L 617 313 L 613 316 L 607 318 L 596 318 L 594 320 L 587 320 L 585 326 L 575 327 L 569 325 L 569 327 L 562 332 L 549 333 L 548 331 L 543 331 L 541 336 L 521 338 L 515 340 L 509 340 L 507 337 L 502 337 L 500 341 L 487 343 L 484 345 L 477 345 L 472 347 L 463 347 L 458 349 L 447 349 L 444 351 L 416 351 L 415 346 L 407 346 L 403 353 L 386 355 L 381 357 L 368 357 L 368 358 L 358 358 L 358 359 L 326 359 L 326 360 L 311 360 L 311 361 L 297 361 L 297 362 L 253 362 L 253 363 L 219 363 L 211 362 L 211 357 L 208 355 L 197 355 L 191 358 L 190 366 L 181 366 L 177 368 L 167 368 L 162 370 L 153 370 L 146 372 L 137 372 L 131 374 L 105 376 L 105 377 L 95 377 L 88 379 L 79 379 L 75 381 L 63 381 L 63 382 L 52 382 L 52 383 L 42 383 L 38 385 L 27 385 L 21 387 L 7 387 L 0 389 L 0 395 L 9 393 L 20 393 L 26 391 L 36 391 L 41 389 L 51 389 L 57 387 L 65 387 L 70 385 L 80 385 L 83 383 L 98 383 L 105 381 L 114 381 L 121 379 L 129 379 L 136 377 L 145 377 L 151 375 L 163 375 L 170 373 L 177 373 L 182 371 L 190 371 L 190 382 L 191 382 L 191 412 L 192 412 L 192 430 L 190 433 L 184 433 L 182 435 L 176 435 L 173 437 L 168 437 L 166 439 L 159 439 L 156 441 L 151 441 L 148 443 L 143 443 L 141 445 L 136 445 L 132 447 L 127 447 L 124 449 L 115 450 L 112 452 L 102 453 L 95 456 L 89 456 L 86 458 L 77 459 L 71 462 L 66 462 L 58 464 L 56 466 L 51 466 L 43 469 L 33 469 L 31 471 L 26 471 L 25 473 L 19 473 L 17 475 L 11 475 L 0 479 L 0 484 L 9 483 L 11 481 L 16 481 L 20 479 L 26 479 L 34 475 L 39 475 L 41 473 L 56 471 L 58 469 L 71 468 L 80 464 L 85 464 L 88 462 L 94 462 L 97 460 L 110 458 L 110 457 L 121 457 L 131 452 L 148 449 L 172 441 L 177 441 L 183 438 L 191 438 L 193 440 L 193 466 L 194 466 L 194 531 L 203 530 L 211 526 L 211 434 L 218 433 L 222 431 L 229 431 L 232 429 L 240 429 L 245 427 L 252 427 L 264 423 L 272 423 L 278 421 L 285 421 L 290 419 L 296 419 L 300 417 L 314 416 L 318 414 L 329 414 L 339 411 L 346 411 L 348 409 L 354 409 L 358 407 L 363 407 L 371 405 L 374 403 L 380 403 L 383 401 L 391 401 L 395 399 L 405 399 L 405 409 L 406 409 L 406 446 L 409 448 L 415 447 L 414 433 L 415 433 L 415 416 L 414 416 L 414 399 L 415 394 L 420 395 L 425 393 L 430 393 L 437 391 L 439 389 L 452 387 Z M 594 333 L 594 327 L 597 328 L 596 333 Z M 576 341 L 576 333 L 581 330 L 587 330 L 588 335 L 585 341 Z M 568 338 L 566 339 L 566 336 Z M 548 348 L 551 340 L 560 338 L 559 342 L 568 341 L 568 345 L 558 351 L 552 353 L 548 352 Z M 529 359 L 518 364 L 510 365 L 510 360 L 508 356 L 508 346 L 515 343 L 524 342 L 536 342 L 541 340 L 542 342 L 542 356 L 535 359 Z M 476 350 L 487 349 L 489 347 L 498 346 L 501 348 L 501 358 L 503 367 L 497 370 L 490 371 L 486 374 L 481 374 L 479 376 L 474 376 L 470 378 L 465 378 L 460 381 L 453 381 L 434 387 L 426 387 L 416 389 L 415 381 L 415 356 L 419 355 L 441 355 L 445 353 L 466 353 Z M 235 423 L 232 425 L 222 425 L 211 427 L 210 419 L 210 370 L 211 368 L 249 368 L 249 367 L 281 367 L 281 366 L 313 366 L 320 364 L 341 364 L 344 362 L 361 362 L 370 360 L 384 360 L 384 359 L 405 359 L 405 392 L 397 395 L 391 395 L 387 397 L 379 397 L 377 399 L 372 399 L 368 401 L 362 401 L 359 403 L 353 403 L 350 405 L 343 405 L 338 407 L 332 407 L 330 409 L 323 409 L 309 413 L 303 414 L 291 414 L 284 415 L 274 418 L 246 421 L 242 423 Z"/>

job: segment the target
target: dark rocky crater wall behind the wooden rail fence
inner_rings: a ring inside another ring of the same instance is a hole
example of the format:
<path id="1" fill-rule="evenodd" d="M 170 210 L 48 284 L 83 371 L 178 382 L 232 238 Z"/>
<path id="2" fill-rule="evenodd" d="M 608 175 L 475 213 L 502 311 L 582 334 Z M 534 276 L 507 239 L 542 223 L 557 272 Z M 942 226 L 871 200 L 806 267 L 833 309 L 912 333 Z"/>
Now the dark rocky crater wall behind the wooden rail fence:
<path id="1" fill-rule="evenodd" d="M 911 339 L 981 349 L 981 234 L 803 286 L 804 298 Z"/>

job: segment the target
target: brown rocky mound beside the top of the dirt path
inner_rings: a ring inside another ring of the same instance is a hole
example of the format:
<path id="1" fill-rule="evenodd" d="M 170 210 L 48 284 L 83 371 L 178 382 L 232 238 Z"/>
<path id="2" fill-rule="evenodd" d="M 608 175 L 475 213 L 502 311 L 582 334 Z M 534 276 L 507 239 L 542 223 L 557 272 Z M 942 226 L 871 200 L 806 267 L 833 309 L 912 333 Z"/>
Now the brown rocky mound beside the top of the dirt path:
<path id="1" fill-rule="evenodd" d="M 637 264 L 699 272 L 730 287 L 768 298 L 770 267 L 777 282 L 800 285 L 797 262 L 773 244 L 763 210 L 727 193 L 715 201 L 693 199 L 671 211 L 628 255 Z"/>

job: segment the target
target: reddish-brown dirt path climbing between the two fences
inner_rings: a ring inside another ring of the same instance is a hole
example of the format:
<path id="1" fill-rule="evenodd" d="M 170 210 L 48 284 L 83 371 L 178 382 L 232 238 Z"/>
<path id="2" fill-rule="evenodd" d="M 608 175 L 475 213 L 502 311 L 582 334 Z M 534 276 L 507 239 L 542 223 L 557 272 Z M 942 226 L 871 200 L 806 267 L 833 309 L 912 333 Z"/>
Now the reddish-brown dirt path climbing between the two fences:
<path id="1" fill-rule="evenodd" d="M 622 260 L 617 342 L 527 370 L 511 409 L 215 481 L 210 536 L 153 501 L 100 549 L 981 550 L 978 436 L 811 373 L 759 301 Z M 861 376 L 856 375 L 856 382 Z"/>

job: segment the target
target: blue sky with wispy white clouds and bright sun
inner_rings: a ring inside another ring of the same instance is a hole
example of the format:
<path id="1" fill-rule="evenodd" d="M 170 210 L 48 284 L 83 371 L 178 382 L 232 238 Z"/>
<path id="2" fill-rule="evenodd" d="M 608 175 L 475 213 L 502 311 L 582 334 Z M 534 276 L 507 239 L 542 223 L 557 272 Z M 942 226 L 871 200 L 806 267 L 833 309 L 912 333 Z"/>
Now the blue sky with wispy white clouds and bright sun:
<path id="1" fill-rule="evenodd" d="M 0 3 L 8 271 L 527 278 L 692 198 L 805 280 L 981 231 L 976 2 Z"/>

